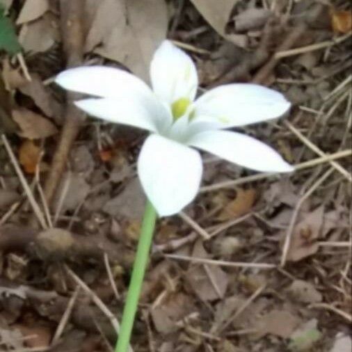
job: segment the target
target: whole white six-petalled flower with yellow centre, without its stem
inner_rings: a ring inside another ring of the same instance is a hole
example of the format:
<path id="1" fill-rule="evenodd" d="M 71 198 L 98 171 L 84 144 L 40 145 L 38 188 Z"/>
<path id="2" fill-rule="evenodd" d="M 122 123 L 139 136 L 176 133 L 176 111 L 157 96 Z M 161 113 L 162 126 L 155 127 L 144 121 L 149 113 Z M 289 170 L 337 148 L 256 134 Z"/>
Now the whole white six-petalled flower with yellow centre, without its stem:
<path id="1" fill-rule="evenodd" d="M 255 84 L 234 83 L 195 99 L 195 65 L 168 40 L 154 54 L 150 78 L 152 90 L 128 72 L 92 66 L 62 72 L 56 83 L 95 96 L 75 102 L 86 113 L 151 132 L 138 157 L 138 175 L 160 216 L 176 214 L 198 192 L 202 160 L 191 147 L 253 170 L 293 170 L 268 145 L 223 130 L 280 117 L 290 106 L 280 93 Z"/>

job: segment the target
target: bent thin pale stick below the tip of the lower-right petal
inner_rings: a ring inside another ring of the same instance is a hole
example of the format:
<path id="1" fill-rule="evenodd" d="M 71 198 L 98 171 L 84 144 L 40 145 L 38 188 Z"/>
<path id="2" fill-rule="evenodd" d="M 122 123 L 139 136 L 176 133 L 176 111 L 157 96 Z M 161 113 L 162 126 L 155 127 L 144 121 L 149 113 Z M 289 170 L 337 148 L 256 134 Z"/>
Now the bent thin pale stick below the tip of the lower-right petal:
<path id="1" fill-rule="evenodd" d="M 294 214 L 291 217 L 291 221 L 289 223 L 289 227 L 287 229 L 286 237 L 285 237 L 285 243 L 284 246 L 282 247 L 282 256 L 281 256 L 281 261 L 280 261 L 280 266 L 285 266 L 286 264 L 286 259 L 287 255 L 289 253 L 289 246 L 291 245 L 291 237 L 294 232 L 294 225 L 296 224 L 296 220 L 299 214 L 299 211 L 301 209 L 301 206 L 307 200 L 307 198 L 312 195 L 312 193 L 333 173 L 334 168 L 329 168 L 326 173 L 321 176 L 317 182 L 315 182 L 310 189 L 302 196 L 300 200 L 298 200 L 296 207 L 294 208 Z"/>

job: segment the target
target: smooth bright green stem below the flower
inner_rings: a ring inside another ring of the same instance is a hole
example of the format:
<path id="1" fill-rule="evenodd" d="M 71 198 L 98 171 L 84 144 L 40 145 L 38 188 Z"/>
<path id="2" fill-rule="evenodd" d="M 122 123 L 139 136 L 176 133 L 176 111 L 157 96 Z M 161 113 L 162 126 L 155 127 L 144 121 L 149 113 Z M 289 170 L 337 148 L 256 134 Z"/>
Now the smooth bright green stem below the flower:
<path id="1" fill-rule="evenodd" d="M 131 282 L 129 283 L 129 290 L 122 314 L 118 344 L 116 345 L 115 352 L 127 352 L 129 349 L 129 339 L 131 338 L 131 331 L 134 326 L 134 317 L 136 316 L 139 296 L 141 295 L 156 220 L 157 212 L 152 206 L 152 203 L 147 201 L 143 216 L 141 237 L 138 241 L 136 258 L 134 259 L 134 269 L 132 271 Z"/>

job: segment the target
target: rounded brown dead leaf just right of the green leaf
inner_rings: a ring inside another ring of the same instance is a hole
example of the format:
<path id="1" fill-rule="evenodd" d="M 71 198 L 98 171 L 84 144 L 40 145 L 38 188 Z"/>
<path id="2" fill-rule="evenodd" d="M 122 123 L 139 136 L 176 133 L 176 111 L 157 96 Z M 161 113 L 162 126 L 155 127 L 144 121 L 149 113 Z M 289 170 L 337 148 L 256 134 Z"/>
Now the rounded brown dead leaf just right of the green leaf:
<path id="1" fill-rule="evenodd" d="M 32 54 L 47 51 L 61 40 L 58 18 L 53 13 L 45 13 L 39 19 L 22 26 L 18 38 L 24 51 Z"/>

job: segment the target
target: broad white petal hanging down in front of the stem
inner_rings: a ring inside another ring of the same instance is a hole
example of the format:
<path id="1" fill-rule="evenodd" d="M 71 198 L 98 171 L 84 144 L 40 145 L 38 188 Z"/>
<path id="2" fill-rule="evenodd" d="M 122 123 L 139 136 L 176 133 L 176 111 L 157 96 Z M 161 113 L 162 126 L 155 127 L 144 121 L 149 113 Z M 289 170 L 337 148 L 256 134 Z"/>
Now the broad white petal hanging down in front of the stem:
<path id="1" fill-rule="evenodd" d="M 202 160 L 196 150 L 152 134 L 139 154 L 138 175 L 158 214 L 173 215 L 197 195 Z"/>

